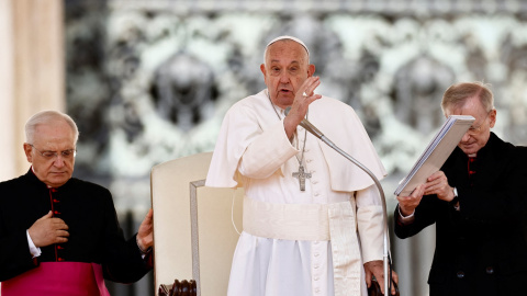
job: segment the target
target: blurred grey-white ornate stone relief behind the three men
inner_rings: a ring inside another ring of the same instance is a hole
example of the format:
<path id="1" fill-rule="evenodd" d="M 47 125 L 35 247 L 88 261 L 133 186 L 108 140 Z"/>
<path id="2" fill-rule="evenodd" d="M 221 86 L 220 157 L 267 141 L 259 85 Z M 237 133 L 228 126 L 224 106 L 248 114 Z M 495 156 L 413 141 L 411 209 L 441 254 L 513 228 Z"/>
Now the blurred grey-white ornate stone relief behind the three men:
<path id="1" fill-rule="evenodd" d="M 282 34 L 307 44 L 318 91 L 356 109 L 394 179 L 442 123 L 440 98 L 456 81 L 491 83 L 495 132 L 527 141 L 526 24 L 514 11 L 412 14 L 385 3 L 293 13 L 197 1 L 187 13 L 147 2 L 85 4 L 67 18 L 77 173 L 106 182 L 119 206 L 147 202 L 153 166 L 214 148 L 226 110 L 265 88 L 264 47 Z"/>

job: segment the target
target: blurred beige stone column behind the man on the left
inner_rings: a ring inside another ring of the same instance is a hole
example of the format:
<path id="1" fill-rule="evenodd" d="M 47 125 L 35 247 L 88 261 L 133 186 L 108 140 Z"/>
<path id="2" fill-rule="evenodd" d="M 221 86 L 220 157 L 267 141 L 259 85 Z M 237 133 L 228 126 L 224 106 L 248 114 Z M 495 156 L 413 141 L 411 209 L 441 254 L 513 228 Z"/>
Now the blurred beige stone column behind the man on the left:
<path id="1" fill-rule="evenodd" d="M 60 0 L 0 0 L 0 180 L 24 173 L 24 124 L 34 113 L 65 111 Z"/>

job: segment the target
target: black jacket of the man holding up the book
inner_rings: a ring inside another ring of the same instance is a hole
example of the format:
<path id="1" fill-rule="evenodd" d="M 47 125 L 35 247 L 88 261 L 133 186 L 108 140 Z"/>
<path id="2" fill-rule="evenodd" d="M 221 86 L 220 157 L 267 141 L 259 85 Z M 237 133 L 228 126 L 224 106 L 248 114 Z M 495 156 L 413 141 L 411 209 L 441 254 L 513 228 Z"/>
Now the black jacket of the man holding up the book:
<path id="1" fill-rule="evenodd" d="M 456 187 L 460 210 L 436 195 L 423 196 L 415 220 L 394 219 L 395 235 L 407 238 L 436 224 L 430 296 L 527 295 L 527 150 L 496 135 L 478 152 L 469 183 L 468 157 L 458 147 L 441 170 Z M 394 213 L 399 216 L 399 208 Z"/>

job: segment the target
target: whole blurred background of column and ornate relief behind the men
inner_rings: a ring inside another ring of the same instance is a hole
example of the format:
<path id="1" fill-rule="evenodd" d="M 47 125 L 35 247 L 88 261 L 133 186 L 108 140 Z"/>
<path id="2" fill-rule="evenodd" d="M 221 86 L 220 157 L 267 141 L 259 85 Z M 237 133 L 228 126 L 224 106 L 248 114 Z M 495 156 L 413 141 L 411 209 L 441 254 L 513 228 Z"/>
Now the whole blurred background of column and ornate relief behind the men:
<path id="1" fill-rule="evenodd" d="M 132 235 L 152 167 L 213 150 L 226 110 L 265 88 L 264 48 L 283 34 L 310 47 L 317 92 L 357 111 L 389 171 L 389 212 L 453 82 L 490 83 L 493 132 L 527 144 L 525 0 L 0 0 L 1 180 L 29 169 L 25 121 L 65 111 L 80 129 L 74 175 L 112 191 Z M 428 295 L 434 239 L 433 227 L 392 235 L 402 295 Z M 152 274 L 108 286 L 154 292 Z"/>

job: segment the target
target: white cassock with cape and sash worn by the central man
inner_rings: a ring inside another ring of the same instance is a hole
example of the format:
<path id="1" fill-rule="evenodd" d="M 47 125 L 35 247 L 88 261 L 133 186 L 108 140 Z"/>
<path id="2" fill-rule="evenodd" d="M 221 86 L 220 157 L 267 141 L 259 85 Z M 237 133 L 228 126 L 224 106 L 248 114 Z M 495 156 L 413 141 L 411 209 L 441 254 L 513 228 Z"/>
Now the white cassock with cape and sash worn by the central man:
<path id="1" fill-rule="evenodd" d="M 323 96 L 307 116 L 335 145 L 384 178 L 349 105 Z M 301 126 L 290 141 L 283 117 L 264 90 L 234 104 L 222 124 L 206 185 L 243 186 L 246 194 L 228 295 L 367 295 L 362 264 L 383 259 L 379 191 L 360 168 Z M 305 139 L 302 163 L 311 178 L 301 191 L 292 174 Z"/>

